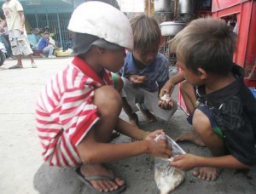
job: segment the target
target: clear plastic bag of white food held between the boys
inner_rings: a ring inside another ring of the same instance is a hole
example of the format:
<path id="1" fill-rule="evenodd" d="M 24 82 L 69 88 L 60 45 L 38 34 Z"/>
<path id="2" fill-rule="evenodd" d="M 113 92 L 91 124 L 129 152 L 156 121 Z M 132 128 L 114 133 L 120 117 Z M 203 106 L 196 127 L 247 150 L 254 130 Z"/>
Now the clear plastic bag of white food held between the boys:
<path id="1" fill-rule="evenodd" d="M 174 168 L 170 165 L 170 161 L 172 161 L 174 156 L 184 154 L 185 151 L 183 151 L 183 149 L 166 134 L 160 134 L 154 140 L 158 141 L 166 139 L 168 140 L 169 145 L 172 146 L 172 157 L 154 158 L 154 181 L 160 190 L 160 194 L 167 194 L 170 191 L 173 191 L 185 178 L 185 172 L 183 170 Z"/>

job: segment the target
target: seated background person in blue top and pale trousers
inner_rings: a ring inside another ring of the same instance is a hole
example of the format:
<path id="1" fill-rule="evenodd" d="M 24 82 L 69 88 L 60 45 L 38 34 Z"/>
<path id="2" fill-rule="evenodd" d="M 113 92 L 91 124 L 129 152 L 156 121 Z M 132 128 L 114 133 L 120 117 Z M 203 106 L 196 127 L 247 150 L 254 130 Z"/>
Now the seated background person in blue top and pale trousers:
<path id="1" fill-rule="evenodd" d="M 49 54 L 48 58 L 55 58 L 54 53 L 55 46 L 52 43 L 49 43 L 49 32 L 44 32 L 44 37 L 41 37 L 38 42 L 38 50 L 42 54 Z M 43 55 L 44 57 L 44 55 Z"/>

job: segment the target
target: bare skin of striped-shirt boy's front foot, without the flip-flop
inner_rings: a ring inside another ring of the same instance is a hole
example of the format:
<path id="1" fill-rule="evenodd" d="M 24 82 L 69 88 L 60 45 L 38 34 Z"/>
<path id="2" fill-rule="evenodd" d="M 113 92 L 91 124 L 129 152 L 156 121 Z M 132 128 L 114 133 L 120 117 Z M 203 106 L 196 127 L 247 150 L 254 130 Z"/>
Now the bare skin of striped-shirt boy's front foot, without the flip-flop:
<path id="1" fill-rule="evenodd" d="M 83 164 L 80 169 L 84 177 L 93 175 L 109 176 L 108 169 L 103 167 L 102 164 Z M 125 185 L 125 182 L 116 176 L 114 180 L 90 180 L 90 184 L 97 191 L 108 192 L 117 190 L 120 186 Z"/>

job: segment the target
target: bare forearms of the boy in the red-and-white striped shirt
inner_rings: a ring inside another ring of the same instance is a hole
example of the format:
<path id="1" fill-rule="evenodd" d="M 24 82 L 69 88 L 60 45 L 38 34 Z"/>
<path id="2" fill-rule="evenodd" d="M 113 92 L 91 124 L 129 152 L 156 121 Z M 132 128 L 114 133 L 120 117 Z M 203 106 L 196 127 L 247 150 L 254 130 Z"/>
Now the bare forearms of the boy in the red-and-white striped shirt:
<path id="1" fill-rule="evenodd" d="M 131 134 L 132 137 L 137 139 L 139 138 L 141 132 L 139 128 L 135 128 L 121 119 L 119 119 L 117 125 L 118 128 L 123 128 L 117 131 L 124 134 Z M 77 146 L 77 149 L 83 163 L 108 163 L 143 153 L 157 157 L 172 156 L 172 148 L 169 147 L 165 140 L 159 142 L 155 142 L 154 140 L 139 140 L 124 144 L 100 143 L 96 141 L 95 128 L 90 129 L 90 132 L 86 134 L 84 140 Z"/>

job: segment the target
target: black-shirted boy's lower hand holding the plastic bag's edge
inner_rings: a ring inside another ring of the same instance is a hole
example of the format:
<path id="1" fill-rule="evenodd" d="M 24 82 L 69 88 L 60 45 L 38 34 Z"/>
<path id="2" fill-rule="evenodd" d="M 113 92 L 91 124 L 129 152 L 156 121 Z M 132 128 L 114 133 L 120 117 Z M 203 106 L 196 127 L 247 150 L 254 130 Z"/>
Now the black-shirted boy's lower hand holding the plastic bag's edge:
<path id="1" fill-rule="evenodd" d="M 187 171 L 198 166 L 199 160 L 200 160 L 200 157 L 197 157 L 195 155 L 182 154 L 182 155 L 173 157 L 173 161 L 170 162 L 170 165 L 172 167 L 176 167 L 184 171 Z"/>

